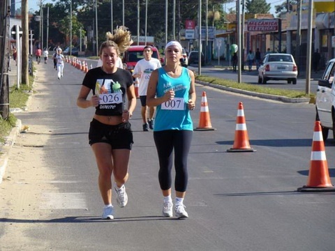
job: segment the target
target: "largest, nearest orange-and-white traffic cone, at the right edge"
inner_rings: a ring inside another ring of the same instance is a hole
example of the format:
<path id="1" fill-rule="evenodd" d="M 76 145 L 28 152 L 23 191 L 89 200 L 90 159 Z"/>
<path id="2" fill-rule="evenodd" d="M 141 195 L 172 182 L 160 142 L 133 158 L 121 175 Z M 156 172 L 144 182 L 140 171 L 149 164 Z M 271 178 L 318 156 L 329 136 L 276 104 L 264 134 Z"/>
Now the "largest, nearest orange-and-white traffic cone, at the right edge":
<path id="1" fill-rule="evenodd" d="M 325 143 L 322 137 L 320 121 L 315 121 L 311 166 L 309 168 L 307 185 L 298 188 L 298 192 L 333 192 L 335 191 L 329 177 L 328 163 L 325 153 Z"/>

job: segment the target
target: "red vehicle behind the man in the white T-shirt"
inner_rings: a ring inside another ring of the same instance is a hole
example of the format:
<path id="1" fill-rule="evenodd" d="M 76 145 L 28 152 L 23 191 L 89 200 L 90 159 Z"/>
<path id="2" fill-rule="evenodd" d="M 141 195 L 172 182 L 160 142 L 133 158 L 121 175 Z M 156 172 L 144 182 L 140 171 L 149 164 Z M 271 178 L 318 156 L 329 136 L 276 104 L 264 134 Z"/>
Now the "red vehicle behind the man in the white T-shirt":
<path id="1" fill-rule="evenodd" d="M 124 63 L 124 69 L 131 71 L 133 74 L 133 70 L 136 66 L 136 63 L 141 59 L 144 59 L 143 50 L 145 45 L 133 45 L 124 52 L 124 56 L 122 58 L 122 62 Z M 152 57 L 161 61 L 161 56 L 159 56 L 159 52 L 156 47 L 152 47 Z"/>

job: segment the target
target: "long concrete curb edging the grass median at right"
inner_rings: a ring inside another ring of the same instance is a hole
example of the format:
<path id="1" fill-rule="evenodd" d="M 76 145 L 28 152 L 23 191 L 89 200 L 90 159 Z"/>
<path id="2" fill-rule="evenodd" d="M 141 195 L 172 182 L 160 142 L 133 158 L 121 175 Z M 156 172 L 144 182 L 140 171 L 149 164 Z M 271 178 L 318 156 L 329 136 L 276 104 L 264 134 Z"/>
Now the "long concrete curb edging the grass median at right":
<path id="1" fill-rule="evenodd" d="M 203 82 L 203 81 L 200 81 L 200 80 L 195 80 L 195 83 L 203 84 L 205 86 L 211 86 L 213 88 L 221 89 L 223 91 L 230 91 L 230 92 L 233 92 L 233 93 L 239 93 L 239 94 L 244 94 L 244 95 L 247 95 L 247 96 L 265 98 L 265 99 L 276 100 L 276 101 L 281 101 L 281 102 L 292 102 L 292 103 L 311 102 L 310 98 L 288 98 L 288 97 L 265 94 L 265 93 L 255 93 L 253 91 L 245 91 L 245 90 L 241 90 L 241 89 L 234 89 L 232 87 L 221 86 L 219 84 L 211 84 L 209 82 Z"/>

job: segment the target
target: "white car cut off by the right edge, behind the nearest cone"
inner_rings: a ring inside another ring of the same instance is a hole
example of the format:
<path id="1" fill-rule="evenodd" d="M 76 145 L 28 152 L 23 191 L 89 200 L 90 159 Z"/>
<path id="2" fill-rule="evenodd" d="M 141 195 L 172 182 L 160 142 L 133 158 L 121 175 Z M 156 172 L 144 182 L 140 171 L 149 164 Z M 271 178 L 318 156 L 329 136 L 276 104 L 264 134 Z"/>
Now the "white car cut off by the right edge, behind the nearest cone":
<path id="1" fill-rule="evenodd" d="M 326 140 L 329 129 L 333 131 L 335 139 L 335 59 L 329 60 L 325 73 L 318 80 L 316 91 L 316 120 L 320 121 L 322 127 L 322 137 Z"/>

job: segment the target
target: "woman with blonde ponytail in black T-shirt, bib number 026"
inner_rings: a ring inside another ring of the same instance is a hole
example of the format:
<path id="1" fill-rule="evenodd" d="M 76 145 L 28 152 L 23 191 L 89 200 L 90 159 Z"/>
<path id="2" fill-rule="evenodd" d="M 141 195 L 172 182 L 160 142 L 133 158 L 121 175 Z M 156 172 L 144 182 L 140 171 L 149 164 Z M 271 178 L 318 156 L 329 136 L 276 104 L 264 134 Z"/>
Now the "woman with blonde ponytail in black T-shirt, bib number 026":
<path id="1" fill-rule="evenodd" d="M 117 204 L 126 206 L 128 195 L 128 163 L 133 146 L 133 132 L 129 119 L 136 106 L 133 77 L 128 70 L 116 66 L 117 58 L 131 45 L 131 33 L 118 27 L 111 40 L 101 44 L 99 55 L 103 66 L 90 69 L 82 82 L 77 98 L 81 108 L 95 107 L 89 128 L 89 144 L 98 166 L 98 186 L 104 208 L 101 218 L 114 219 L 112 206 L 112 174 Z M 88 98 L 92 91 L 93 95 Z M 125 109 L 126 97 L 128 109 Z"/>

